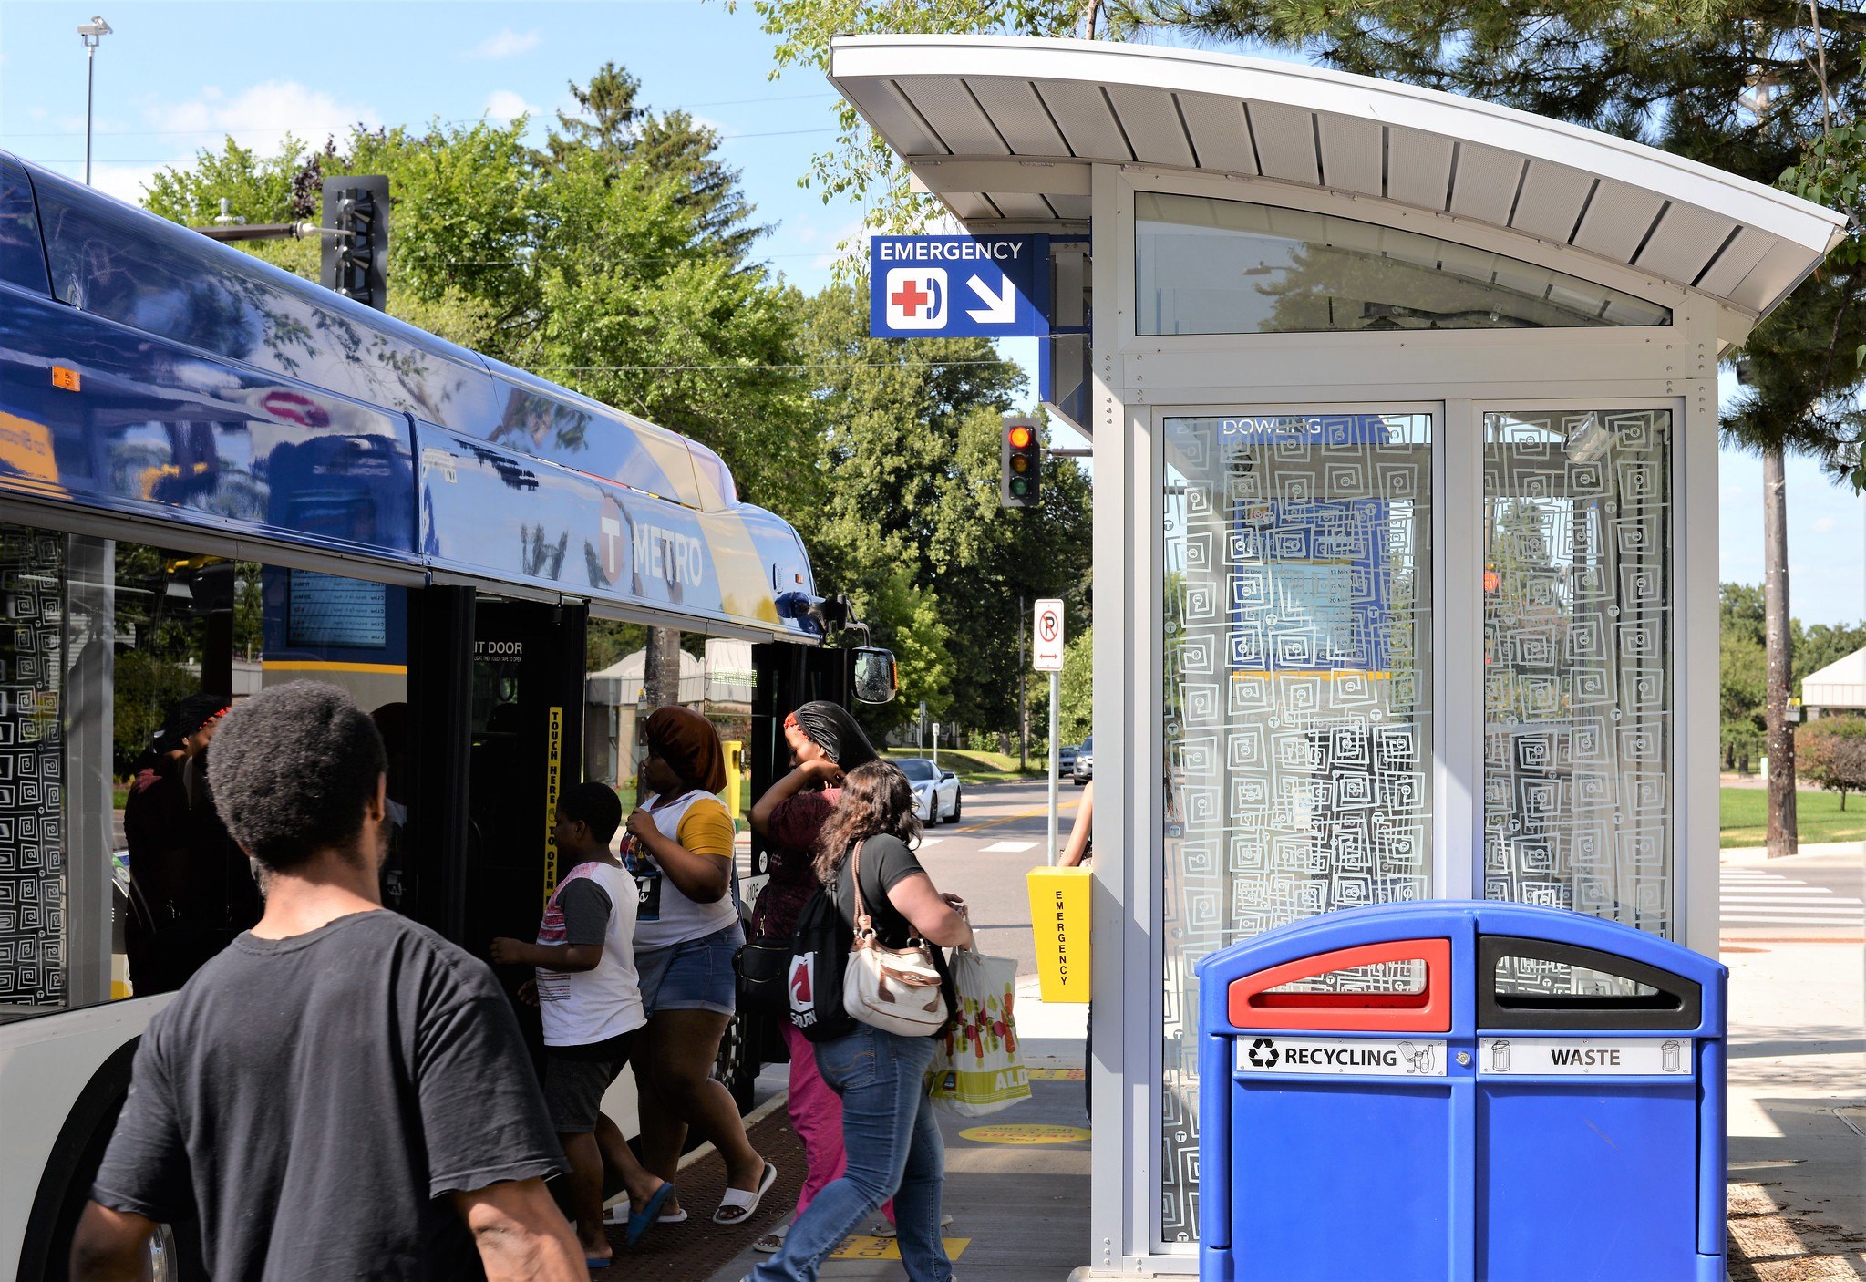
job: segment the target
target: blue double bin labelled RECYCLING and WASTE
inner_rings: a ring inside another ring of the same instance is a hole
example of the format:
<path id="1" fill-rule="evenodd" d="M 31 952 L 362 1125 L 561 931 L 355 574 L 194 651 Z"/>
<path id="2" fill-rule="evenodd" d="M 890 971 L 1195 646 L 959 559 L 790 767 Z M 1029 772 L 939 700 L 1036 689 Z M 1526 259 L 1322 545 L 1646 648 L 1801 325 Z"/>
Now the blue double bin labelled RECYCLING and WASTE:
<path id="1" fill-rule="evenodd" d="M 1724 1280 L 1717 961 L 1439 899 L 1198 974 L 1204 1282 Z"/>

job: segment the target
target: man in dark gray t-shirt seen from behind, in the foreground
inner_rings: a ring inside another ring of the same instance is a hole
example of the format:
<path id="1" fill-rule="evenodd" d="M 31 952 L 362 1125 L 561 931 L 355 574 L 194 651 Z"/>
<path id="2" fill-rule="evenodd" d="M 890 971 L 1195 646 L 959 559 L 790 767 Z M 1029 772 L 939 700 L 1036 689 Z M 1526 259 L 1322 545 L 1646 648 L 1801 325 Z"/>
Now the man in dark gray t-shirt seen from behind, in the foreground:
<path id="1" fill-rule="evenodd" d="M 330 685 L 228 713 L 209 765 L 265 916 L 149 1024 L 71 1252 L 140 1275 L 194 1219 L 211 1276 L 584 1280 L 564 1157 L 483 963 L 386 913 L 383 743 Z"/>

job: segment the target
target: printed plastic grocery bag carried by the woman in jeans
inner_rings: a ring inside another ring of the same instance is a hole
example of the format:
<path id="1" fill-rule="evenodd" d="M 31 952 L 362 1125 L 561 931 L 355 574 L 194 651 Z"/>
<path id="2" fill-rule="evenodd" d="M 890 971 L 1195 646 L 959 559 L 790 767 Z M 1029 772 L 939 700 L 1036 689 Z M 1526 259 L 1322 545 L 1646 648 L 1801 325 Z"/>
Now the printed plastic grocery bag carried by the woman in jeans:
<path id="1" fill-rule="evenodd" d="M 959 1008 L 939 1038 L 927 1094 L 933 1103 L 963 1118 L 983 1118 L 1030 1099 L 1030 1075 L 1017 1054 L 1017 963 L 955 950 L 952 985 Z"/>

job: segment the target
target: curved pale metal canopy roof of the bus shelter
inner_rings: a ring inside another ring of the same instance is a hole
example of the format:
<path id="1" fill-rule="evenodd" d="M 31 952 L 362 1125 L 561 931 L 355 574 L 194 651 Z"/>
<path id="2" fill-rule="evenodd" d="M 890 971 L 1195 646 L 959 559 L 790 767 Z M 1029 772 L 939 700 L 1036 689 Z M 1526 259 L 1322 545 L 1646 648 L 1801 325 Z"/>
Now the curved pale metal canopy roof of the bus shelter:
<path id="1" fill-rule="evenodd" d="M 1840 215 L 1506 106 L 1256 58 L 1006 35 L 843 35 L 830 80 L 968 226 L 1080 231 L 1090 162 L 1265 177 L 1567 244 L 1767 314 Z"/>

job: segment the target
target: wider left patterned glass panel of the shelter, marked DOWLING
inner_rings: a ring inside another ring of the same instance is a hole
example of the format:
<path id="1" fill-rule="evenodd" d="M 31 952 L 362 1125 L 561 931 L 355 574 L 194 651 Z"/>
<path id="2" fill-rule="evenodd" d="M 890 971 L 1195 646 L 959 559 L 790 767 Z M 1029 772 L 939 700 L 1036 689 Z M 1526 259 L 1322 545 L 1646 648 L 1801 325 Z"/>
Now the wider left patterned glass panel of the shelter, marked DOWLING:
<path id="1" fill-rule="evenodd" d="M 1192 967 L 1431 890 L 1431 416 L 1168 418 L 1164 444 L 1161 1239 L 1189 1243 Z"/>

